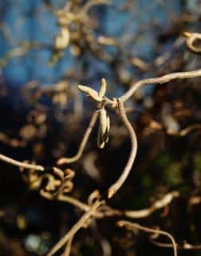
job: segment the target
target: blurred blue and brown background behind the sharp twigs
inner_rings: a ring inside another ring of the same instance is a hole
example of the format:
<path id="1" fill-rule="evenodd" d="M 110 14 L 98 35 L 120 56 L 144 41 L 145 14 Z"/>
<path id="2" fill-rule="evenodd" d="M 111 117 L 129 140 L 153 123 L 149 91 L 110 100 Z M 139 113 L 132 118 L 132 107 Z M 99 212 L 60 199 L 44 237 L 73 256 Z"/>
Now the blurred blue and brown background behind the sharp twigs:
<path id="1" fill-rule="evenodd" d="M 200 56 L 187 50 L 181 35 L 200 32 L 199 0 L 0 0 L 0 12 L 0 148 L 20 161 L 54 166 L 77 152 L 96 110 L 78 84 L 97 89 L 106 78 L 107 95 L 117 97 L 141 78 L 200 68 Z M 201 244 L 201 208 L 191 203 L 201 192 L 200 130 L 179 133 L 201 122 L 200 82 L 147 86 L 129 100 L 139 152 L 111 202 L 137 210 L 178 190 L 166 213 L 140 222 L 168 230 L 181 245 Z M 108 146 L 97 149 L 96 126 L 84 156 L 70 166 L 76 170 L 72 195 L 82 202 L 93 190 L 106 190 L 128 158 L 127 131 L 109 114 Z M 45 255 L 81 212 L 41 198 L 17 167 L 0 165 L 0 255 Z M 118 230 L 115 221 L 81 230 L 72 255 L 171 255 L 144 235 Z"/>

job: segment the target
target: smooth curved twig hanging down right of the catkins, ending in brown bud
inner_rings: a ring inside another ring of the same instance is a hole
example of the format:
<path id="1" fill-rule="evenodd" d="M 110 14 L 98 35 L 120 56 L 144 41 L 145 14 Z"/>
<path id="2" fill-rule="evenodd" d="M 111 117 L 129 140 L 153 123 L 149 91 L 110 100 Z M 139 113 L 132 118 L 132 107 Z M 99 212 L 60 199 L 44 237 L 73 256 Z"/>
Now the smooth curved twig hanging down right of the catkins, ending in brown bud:
<path id="1" fill-rule="evenodd" d="M 126 166 L 124 167 L 124 170 L 123 170 L 122 174 L 120 175 L 120 178 L 118 178 L 117 181 L 112 186 L 110 186 L 108 189 L 108 198 L 112 198 L 112 196 L 116 193 L 116 191 L 119 190 L 120 187 L 124 184 L 126 178 L 128 177 L 128 174 L 130 173 L 130 170 L 132 169 L 132 165 L 136 158 L 136 151 L 137 151 L 136 132 L 133 129 L 132 124 L 129 122 L 129 120 L 127 118 L 127 115 L 124 110 L 124 104 L 120 99 L 118 99 L 118 107 L 120 110 L 120 117 L 128 130 L 128 133 L 129 133 L 129 136 L 131 139 L 131 143 L 132 143 L 132 148 L 130 151 L 128 162 L 127 162 Z"/>

